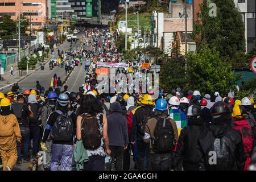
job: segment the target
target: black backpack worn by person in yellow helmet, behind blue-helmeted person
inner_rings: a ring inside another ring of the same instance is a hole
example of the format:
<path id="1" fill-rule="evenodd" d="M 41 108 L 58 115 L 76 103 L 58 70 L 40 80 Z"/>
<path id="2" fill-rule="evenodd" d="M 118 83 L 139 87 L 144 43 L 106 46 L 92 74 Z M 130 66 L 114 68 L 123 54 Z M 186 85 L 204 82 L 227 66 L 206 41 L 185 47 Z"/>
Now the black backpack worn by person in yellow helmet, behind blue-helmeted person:
<path id="1" fill-rule="evenodd" d="M 147 123 L 148 119 L 154 118 L 154 117 L 155 117 L 155 113 L 150 107 L 142 108 L 141 119 L 139 120 L 140 122 L 138 124 L 138 132 L 141 133 L 142 135 L 144 135 L 145 127 L 146 127 L 146 123 Z"/>

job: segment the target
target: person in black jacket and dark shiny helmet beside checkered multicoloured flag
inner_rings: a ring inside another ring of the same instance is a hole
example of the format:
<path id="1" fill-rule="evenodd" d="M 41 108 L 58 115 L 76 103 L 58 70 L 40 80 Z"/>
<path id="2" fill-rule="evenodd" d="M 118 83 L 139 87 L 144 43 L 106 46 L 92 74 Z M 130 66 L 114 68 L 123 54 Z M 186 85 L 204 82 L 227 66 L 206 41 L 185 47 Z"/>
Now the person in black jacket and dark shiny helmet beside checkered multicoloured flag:
<path id="1" fill-rule="evenodd" d="M 201 117 L 201 107 L 191 105 L 187 110 L 188 126 L 181 130 L 174 154 L 174 168 L 181 171 L 181 163 L 184 171 L 196 171 L 199 169 L 197 142 L 205 131 L 205 121 Z"/>

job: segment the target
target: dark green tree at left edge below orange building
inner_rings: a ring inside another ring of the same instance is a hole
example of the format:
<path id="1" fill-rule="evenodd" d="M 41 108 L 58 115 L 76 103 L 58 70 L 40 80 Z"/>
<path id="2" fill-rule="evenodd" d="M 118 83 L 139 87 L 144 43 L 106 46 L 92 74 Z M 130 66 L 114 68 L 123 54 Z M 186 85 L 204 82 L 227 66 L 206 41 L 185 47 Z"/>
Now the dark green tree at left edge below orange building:
<path id="1" fill-rule="evenodd" d="M 15 35 L 16 23 L 11 19 L 11 16 L 3 15 L 0 18 L 0 35 Z"/>

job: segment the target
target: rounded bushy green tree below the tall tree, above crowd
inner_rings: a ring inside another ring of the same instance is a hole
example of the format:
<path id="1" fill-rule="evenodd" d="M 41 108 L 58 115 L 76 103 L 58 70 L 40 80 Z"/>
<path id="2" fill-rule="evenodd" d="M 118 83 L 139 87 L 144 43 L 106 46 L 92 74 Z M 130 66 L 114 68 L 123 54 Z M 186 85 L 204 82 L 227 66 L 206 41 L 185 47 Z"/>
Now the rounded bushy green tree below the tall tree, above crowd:
<path id="1" fill-rule="evenodd" d="M 231 64 L 222 61 L 216 49 L 205 47 L 195 53 L 189 52 L 187 88 L 200 90 L 202 93 L 228 93 L 234 89 L 236 77 Z"/>

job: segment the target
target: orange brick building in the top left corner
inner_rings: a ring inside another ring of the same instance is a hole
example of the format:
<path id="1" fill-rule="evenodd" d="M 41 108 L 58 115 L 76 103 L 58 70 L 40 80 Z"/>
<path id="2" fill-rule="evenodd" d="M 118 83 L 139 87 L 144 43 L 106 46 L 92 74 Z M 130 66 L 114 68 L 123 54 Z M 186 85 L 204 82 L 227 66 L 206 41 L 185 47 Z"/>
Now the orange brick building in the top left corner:
<path id="1" fill-rule="evenodd" d="M 47 0 L 0 0 L 0 16 L 18 19 L 19 12 L 28 18 L 33 30 L 42 29 L 48 22 Z"/>

